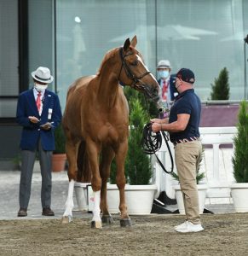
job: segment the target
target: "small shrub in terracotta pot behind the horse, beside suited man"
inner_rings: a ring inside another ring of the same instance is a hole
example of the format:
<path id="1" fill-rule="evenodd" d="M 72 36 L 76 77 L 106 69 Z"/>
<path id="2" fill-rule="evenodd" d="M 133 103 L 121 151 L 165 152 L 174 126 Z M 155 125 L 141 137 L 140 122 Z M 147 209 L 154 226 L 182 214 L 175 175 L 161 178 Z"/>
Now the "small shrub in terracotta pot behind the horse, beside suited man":
<path id="1" fill-rule="evenodd" d="M 66 166 L 66 137 L 62 128 L 59 125 L 55 128 L 55 151 L 52 155 L 52 171 L 61 172 Z"/>

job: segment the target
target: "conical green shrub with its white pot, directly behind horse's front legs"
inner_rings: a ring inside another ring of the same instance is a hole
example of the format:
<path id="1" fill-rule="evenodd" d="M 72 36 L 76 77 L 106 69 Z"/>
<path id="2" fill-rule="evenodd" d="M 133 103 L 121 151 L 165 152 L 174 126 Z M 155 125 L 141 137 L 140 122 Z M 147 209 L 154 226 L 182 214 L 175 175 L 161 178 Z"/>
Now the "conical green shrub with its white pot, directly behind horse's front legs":
<path id="1" fill-rule="evenodd" d="M 149 214 L 157 185 L 150 184 L 153 176 L 150 157 L 143 153 L 141 137 L 148 115 L 141 106 L 141 100 L 131 96 L 130 102 L 130 136 L 129 151 L 125 161 L 126 203 L 129 214 Z M 118 188 L 115 183 L 116 166 L 112 163 L 110 183 L 107 188 L 109 212 L 118 212 Z"/>

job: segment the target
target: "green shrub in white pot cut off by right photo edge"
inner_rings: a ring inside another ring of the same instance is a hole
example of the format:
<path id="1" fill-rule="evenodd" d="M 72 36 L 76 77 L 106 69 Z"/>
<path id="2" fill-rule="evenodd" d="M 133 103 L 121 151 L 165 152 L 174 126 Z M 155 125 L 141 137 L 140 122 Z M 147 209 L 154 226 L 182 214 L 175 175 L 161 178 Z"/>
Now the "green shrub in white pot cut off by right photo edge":
<path id="1" fill-rule="evenodd" d="M 231 195 L 236 212 L 248 212 L 248 102 L 240 102 L 237 124 L 237 135 L 234 137 L 234 178 Z"/>

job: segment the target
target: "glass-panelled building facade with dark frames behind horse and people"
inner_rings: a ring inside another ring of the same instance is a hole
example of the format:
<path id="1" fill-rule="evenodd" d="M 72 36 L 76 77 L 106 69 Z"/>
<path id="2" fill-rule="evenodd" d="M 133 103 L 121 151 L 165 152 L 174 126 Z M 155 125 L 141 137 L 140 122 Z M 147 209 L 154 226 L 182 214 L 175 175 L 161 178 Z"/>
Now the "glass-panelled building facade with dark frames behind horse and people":
<path id="1" fill-rule="evenodd" d="M 153 74 L 161 59 L 170 60 L 172 73 L 189 67 L 207 101 L 227 67 L 230 99 L 247 98 L 247 13 L 245 0 L 0 0 L 0 160 L 19 154 L 16 103 L 32 88 L 33 70 L 50 68 L 49 89 L 64 109 L 68 86 L 95 74 L 107 50 L 134 35 Z"/>

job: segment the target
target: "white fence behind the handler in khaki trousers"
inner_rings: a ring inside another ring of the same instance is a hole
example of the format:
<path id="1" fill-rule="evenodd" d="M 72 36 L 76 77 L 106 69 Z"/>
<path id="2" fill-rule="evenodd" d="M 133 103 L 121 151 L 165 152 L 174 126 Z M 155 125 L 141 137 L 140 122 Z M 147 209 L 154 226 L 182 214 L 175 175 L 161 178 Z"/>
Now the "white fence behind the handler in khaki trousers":
<path id="1" fill-rule="evenodd" d="M 234 154 L 234 135 L 236 127 L 201 127 L 200 134 L 205 146 L 204 160 L 200 171 L 205 172 L 204 183 L 208 184 L 207 200 L 209 203 L 230 203 L 230 184 L 234 182 L 232 156 Z M 228 145 L 221 146 L 221 145 Z M 221 147 L 220 147 L 221 146 Z M 174 156 L 174 147 L 170 143 Z M 158 154 L 167 170 L 170 170 L 170 155 L 163 143 Z M 153 160 L 155 157 L 153 157 Z M 170 174 L 164 173 L 155 160 L 155 182 L 159 191 L 165 191 L 170 198 L 175 198 L 173 186 L 177 183 Z M 176 166 L 174 166 L 176 172 Z"/>

